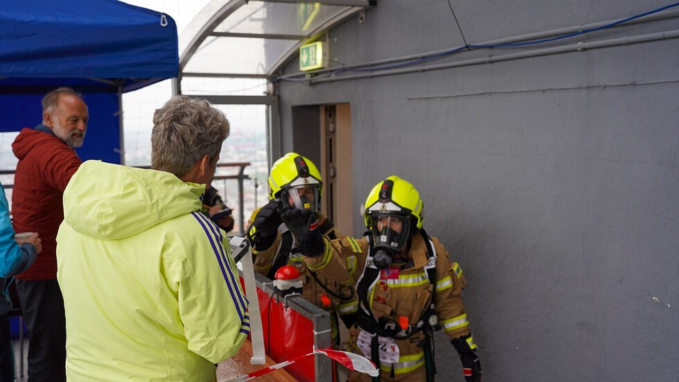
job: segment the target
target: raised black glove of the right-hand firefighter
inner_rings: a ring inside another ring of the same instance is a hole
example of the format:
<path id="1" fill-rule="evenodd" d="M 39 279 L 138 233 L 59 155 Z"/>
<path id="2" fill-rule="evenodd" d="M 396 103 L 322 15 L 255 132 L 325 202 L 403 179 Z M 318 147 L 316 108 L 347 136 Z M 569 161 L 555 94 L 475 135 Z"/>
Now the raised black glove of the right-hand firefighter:
<path id="1" fill-rule="evenodd" d="M 326 248 L 318 230 L 318 220 L 310 209 L 289 209 L 281 214 L 283 223 L 288 226 L 292 236 L 297 238 L 297 250 L 304 256 L 315 257 L 323 254 Z"/>

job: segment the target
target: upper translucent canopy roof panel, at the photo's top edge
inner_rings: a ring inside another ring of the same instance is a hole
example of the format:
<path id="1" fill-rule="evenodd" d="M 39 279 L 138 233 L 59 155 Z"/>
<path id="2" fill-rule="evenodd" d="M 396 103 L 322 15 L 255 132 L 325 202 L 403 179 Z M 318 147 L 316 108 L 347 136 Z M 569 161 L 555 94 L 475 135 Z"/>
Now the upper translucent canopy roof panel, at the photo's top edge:
<path id="1" fill-rule="evenodd" d="M 308 37 L 312 31 L 349 8 L 320 3 L 267 3 L 252 0 L 222 21 L 215 32 Z"/>

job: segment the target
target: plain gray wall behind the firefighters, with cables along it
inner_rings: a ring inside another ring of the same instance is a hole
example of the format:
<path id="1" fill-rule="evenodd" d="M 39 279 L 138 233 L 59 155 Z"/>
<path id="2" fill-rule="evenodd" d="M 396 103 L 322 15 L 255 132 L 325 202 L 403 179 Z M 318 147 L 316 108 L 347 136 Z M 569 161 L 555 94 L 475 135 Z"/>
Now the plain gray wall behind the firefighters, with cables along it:
<path id="1" fill-rule="evenodd" d="M 467 42 L 477 43 L 665 3 L 452 5 Z M 674 29 L 679 19 L 547 46 Z M 364 23 L 352 18 L 329 38 L 330 58 L 346 64 L 462 44 L 448 3 L 434 0 L 379 1 Z M 485 381 L 679 381 L 678 52 L 670 39 L 280 83 L 283 136 L 294 106 L 351 103 L 354 225 L 379 180 L 396 174 L 416 185 L 427 231 L 466 273 Z M 439 380 L 463 381 L 455 350 L 441 333 L 436 340 Z"/>

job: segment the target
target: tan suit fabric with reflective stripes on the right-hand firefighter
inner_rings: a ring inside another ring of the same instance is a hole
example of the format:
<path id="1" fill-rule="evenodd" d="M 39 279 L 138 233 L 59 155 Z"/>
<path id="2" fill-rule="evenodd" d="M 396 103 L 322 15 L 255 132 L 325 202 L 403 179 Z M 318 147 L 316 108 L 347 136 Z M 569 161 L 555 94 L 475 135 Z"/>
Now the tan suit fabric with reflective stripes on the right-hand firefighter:
<path id="1" fill-rule="evenodd" d="M 457 263 L 451 263 L 448 252 L 436 238 L 432 238 L 434 250 L 436 251 L 436 275 L 435 284 L 432 285 L 427 277 L 425 266 L 427 265 L 427 249 L 425 241 L 421 235 L 416 234 L 412 239 L 409 257 L 412 264 L 398 270 L 398 277 L 378 277 L 369 289 L 370 309 L 375 318 L 387 318 L 388 322 L 398 324 L 408 322 L 415 324 L 423 316 L 423 313 L 430 309 L 428 300 L 432 291 L 436 288 L 435 302 L 436 315 L 448 336 L 458 338 L 470 333 L 466 312 L 461 292 L 466 283 L 464 275 Z M 369 241 L 367 238 L 342 238 L 326 243 L 330 245 L 332 252 L 328 257 L 304 257 L 310 266 L 317 266 L 319 263 L 327 263 L 321 268 L 322 272 L 328 275 L 335 275 L 338 278 L 351 279 L 357 281 L 366 268 L 366 260 L 369 252 Z M 342 261 L 349 257 L 358 257 L 355 269 L 349 269 L 349 261 Z M 319 270 L 321 272 L 321 270 Z M 395 274 L 395 273 L 394 273 Z M 342 276 L 344 275 L 344 276 Z M 463 320 L 464 319 L 464 320 Z M 446 326 L 447 325 L 447 326 Z M 418 354 L 422 354 L 421 348 L 416 347 L 423 338 L 421 333 L 414 339 L 396 340 L 400 351 L 399 363 L 395 363 L 395 373 L 405 373 L 424 365 L 424 359 Z M 358 331 L 352 331 L 350 343 L 355 342 Z M 413 342 L 414 341 L 414 342 Z M 359 349 L 353 349 L 358 351 Z M 367 354 L 366 356 L 370 356 Z M 390 364 L 380 367 L 391 367 Z"/>

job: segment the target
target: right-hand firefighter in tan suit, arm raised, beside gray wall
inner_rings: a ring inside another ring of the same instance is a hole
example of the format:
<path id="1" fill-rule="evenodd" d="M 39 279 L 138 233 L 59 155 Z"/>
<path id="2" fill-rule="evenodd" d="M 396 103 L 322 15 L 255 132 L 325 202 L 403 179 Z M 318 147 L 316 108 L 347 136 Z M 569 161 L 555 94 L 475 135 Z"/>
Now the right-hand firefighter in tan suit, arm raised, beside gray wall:
<path id="1" fill-rule="evenodd" d="M 364 206 L 369 232 L 358 240 L 322 238 L 313 217 L 303 212 L 288 223 L 307 243 L 302 253 L 310 268 L 355 283 L 359 309 L 349 350 L 376 363 L 382 381 L 433 381 L 433 332 L 443 329 L 459 353 L 466 381 L 480 382 L 481 363 L 461 297 L 465 277 L 423 229 L 418 191 L 390 176 L 373 187 Z M 354 269 L 343 260 L 351 256 L 358 256 Z M 349 374 L 352 382 L 369 380 L 366 374 Z"/>

